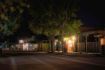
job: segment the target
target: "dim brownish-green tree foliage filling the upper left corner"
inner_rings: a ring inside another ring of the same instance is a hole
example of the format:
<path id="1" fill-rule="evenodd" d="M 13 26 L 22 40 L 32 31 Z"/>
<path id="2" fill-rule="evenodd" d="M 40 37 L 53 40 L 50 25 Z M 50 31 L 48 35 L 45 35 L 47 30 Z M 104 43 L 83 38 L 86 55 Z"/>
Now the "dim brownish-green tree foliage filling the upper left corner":
<path id="1" fill-rule="evenodd" d="M 25 8 L 29 8 L 26 0 L 3 0 L 0 2 L 0 32 L 6 40 L 19 28 Z"/>

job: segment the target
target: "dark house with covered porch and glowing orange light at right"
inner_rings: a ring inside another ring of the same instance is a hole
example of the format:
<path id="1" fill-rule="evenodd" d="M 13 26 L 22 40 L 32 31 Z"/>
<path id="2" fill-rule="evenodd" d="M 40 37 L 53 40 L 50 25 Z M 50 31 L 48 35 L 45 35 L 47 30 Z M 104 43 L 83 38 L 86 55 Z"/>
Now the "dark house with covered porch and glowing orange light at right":
<path id="1" fill-rule="evenodd" d="M 105 28 L 82 26 L 76 51 L 86 53 L 105 53 Z"/>

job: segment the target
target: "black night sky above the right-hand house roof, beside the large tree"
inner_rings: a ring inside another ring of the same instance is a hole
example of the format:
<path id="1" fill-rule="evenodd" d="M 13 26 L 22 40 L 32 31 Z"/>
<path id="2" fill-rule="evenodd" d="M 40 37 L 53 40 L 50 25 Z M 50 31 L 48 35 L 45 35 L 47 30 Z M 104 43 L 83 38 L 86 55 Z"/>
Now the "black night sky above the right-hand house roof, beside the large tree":
<path id="1" fill-rule="evenodd" d="M 87 26 L 105 27 L 105 4 L 103 0 L 80 0 L 79 17 Z"/>

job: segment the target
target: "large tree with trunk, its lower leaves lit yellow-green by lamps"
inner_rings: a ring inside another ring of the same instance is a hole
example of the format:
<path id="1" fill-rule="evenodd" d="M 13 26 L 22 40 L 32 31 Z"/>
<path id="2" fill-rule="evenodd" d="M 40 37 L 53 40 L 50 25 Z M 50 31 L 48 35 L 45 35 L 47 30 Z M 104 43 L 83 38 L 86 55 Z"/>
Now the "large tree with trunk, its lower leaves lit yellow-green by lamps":
<path id="1" fill-rule="evenodd" d="M 55 4 L 56 3 L 56 4 Z M 42 33 L 49 37 L 49 41 L 52 45 L 51 51 L 53 51 L 53 42 L 55 36 L 70 35 L 70 33 L 79 33 L 79 27 L 81 22 L 77 19 L 76 12 L 78 11 L 78 2 L 73 0 L 66 0 L 55 2 L 55 0 L 49 0 L 46 4 L 39 4 L 38 9 L 31 9 L 31 15 L 33 21 L 31 22 L 30 29 L 34 33 Z"/>

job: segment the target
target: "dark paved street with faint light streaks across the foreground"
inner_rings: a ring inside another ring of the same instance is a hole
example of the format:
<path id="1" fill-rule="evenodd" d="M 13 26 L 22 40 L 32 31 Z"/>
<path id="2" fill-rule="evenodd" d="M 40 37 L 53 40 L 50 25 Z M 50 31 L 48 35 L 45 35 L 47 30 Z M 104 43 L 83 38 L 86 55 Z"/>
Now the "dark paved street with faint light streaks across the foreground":
<path id="1" fill-rule="evenodd" d="M 105 57 L 66 55 L 0 57 L 0 70 L 105 70 Z"/>

